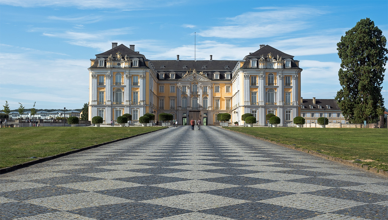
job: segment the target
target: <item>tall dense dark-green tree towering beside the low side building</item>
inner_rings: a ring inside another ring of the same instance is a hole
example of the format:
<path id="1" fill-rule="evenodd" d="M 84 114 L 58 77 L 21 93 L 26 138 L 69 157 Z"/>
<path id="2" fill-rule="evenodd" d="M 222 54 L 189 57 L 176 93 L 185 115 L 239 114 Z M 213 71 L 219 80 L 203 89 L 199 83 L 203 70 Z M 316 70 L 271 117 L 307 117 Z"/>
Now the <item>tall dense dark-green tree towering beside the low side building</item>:
<path id="1" fill-rule="evenodd" d="M 369 18 L 357 22 L 337 43 L 342 89 L 337 92 L 336 100 L 350 123 L 376 122 L 378 113 L 384 109 L 381 84 L 388 60 L 385 45 L 385 36 Z"/>

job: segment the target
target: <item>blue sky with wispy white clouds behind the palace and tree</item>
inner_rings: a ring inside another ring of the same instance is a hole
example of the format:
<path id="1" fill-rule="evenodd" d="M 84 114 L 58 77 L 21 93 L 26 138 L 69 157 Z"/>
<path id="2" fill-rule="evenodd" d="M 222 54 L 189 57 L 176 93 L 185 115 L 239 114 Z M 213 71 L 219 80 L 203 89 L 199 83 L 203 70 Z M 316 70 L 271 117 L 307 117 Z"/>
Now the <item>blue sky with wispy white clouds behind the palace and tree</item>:
<path id="1" fill-rule="evenodd" d="M 336 43 L 369 17 L 387 37 L 387 1 L 2 0 L 0 103 L 82 108 L 90 58 L 111 42 L 148 59 L 241 60 L 260 44 L 300 60 L 303 98 L 340 89 Z M 387 66 L 386 66 L 387 67 Z M 388 85 L 383 82 L 388 100 Z M 2 106 L 1 106 L 2 108 Z"/>

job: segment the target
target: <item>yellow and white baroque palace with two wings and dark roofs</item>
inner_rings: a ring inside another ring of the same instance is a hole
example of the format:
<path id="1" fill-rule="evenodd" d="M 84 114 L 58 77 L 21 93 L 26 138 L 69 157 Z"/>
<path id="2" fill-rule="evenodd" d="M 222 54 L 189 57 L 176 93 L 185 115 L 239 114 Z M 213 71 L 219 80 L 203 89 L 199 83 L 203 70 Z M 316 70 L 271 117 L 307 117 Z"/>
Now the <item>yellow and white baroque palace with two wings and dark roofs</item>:
<path id="1" fill-rule="evenodd" d="M 180 125 L 194 118 L 218 125 L 217 115 L 228 112 L 230 123 L 252 113 L 258 125 L 274 113 L 279 126 L 293 126 L 300 116 L 299 60 L 269 45 L 242 60 L 148 60 L 126 47 L 95 55 L 89 70 L 89 120 L 101 116 L 105 124 L 130 113 L 137 124 L 145 113 L 170 113 Z"/>

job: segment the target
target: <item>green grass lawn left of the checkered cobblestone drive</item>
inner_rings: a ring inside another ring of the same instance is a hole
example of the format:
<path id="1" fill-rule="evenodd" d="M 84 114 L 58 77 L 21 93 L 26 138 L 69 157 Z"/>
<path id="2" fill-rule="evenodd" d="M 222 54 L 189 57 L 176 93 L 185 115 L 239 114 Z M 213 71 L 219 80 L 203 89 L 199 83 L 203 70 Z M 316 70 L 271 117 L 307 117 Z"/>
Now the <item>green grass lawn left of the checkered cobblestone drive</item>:
<path id="1" fill-rule="evenodd" d="M 162 127 L 16 127 L 0 129 L 0 168 Z"/>

